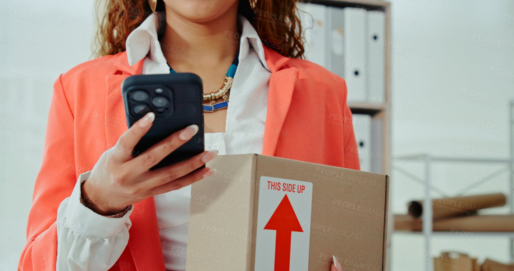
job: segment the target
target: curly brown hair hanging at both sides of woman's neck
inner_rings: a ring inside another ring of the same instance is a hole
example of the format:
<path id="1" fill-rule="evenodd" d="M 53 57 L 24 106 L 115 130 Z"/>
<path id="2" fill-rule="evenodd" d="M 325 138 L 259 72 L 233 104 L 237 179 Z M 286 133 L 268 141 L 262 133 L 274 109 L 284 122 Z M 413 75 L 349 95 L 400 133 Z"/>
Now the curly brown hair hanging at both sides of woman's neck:
<path id="1" fill-rule="evenodd" d="M 298 1 L 240 0 L 237 12 L 250 21 L 265 46 L 285 57 L 304 58 Z M 99 15 L 93 44 L 96 57 L 125 51 L 128 34 L 152 14 L 148 0 L 97 0 L 95 7 Z"/>

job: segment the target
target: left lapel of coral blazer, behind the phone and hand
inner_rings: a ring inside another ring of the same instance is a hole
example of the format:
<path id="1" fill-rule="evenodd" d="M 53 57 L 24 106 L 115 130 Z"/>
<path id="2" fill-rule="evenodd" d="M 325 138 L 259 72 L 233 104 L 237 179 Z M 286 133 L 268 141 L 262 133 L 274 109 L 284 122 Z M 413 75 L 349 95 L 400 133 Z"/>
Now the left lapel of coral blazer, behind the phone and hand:
<path id="1" fill-rule="evenodd" d="M 127 130 L 125 105 L 121 95 L 121 82 L 131 76 L 141 73 L 143 60 L 133 66 L 126 61 L 126 52 L 114 59 L 117 68 L 114 75 L 105 77 L 105 137 L 109 148 L 114 146 L 118 138 Z M 164 270 L 164 258 L 160 244 L 157 215 L 155 213 L 154 197 L 146 198 L 134 204 L 134 211 L 130 216 L 132 226 L 128 231 L 128 248 L 132 254 L 137 270 Z"/>

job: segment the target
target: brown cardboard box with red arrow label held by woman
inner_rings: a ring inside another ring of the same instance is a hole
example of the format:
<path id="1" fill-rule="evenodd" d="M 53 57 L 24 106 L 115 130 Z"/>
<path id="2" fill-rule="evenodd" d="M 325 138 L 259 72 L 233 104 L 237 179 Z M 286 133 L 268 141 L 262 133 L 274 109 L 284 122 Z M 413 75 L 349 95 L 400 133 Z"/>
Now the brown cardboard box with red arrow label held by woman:
<path id="1" fill-rule="evenodd" d="M 186 270 L 383 270 L 389 177 L 219 155 L 192 185 Z M 284 191 L 285 190 L 285 191 Z"/>

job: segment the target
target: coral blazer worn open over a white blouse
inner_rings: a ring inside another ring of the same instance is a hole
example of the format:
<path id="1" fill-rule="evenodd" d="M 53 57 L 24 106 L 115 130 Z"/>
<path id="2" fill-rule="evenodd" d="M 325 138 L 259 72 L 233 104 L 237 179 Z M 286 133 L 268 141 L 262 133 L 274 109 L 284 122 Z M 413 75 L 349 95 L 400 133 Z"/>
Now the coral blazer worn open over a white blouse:
<path id="1" fill-rule="evenodd" d="M 264 47 L 269 80 L 263 154 L 359 170 L 344 80 L 314 63 Z M 127 130 L 120 86 L 141 74 L 126 52 L 82 63 L 53 86 L 41 169 L 19 270 L 55 270 L 57 209 L 78 176 Z M 130 239 L 111 270 L 165 270 L 154 198 L 135 204 Z"/>

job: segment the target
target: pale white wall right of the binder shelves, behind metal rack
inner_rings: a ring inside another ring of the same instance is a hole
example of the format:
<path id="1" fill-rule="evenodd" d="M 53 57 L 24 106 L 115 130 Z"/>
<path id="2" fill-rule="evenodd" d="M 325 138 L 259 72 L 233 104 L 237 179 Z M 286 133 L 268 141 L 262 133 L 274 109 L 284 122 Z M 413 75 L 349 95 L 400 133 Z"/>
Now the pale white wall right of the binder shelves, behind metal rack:
<path id="1" fill-rule="evenodd" d="M 484 97 L 489 94 L 514 100 L 514 75 L 508 77 L 510 82 L 488 77 L 491 67 L 514 71 L 514 21 L 503 18 L 504 13 L 514 13 L 514 2 L 392 0 L 391 7 L 392 15 L 416 20 L 415 25 L 393 21 L 392 41 L 433 52 L 432 58 L 415 53 L 409 53 L 409 56 L 393 54 L 392 70 L 403 73 L 402 79 L 392 79 L 393 99 L 419 106 L 418 112 L 401 107 L 392 112 L 393 155 L 427 153 L 463 158 L 458 154 L 466 152 L 447 152 L 452 150 L 448 144 L 455 143 L 508 157 L 506 137 L 512 137 L 512 134 L 490 135 L 476 131 L 479 121 L 508 127 L 508 106 L 487 99 L 478 99 L 482 103 L 465 100 L 471 97 L 461 93 L 461 89 L 482 92 Z M 474 45 L 473 42 L 483 44 L 478 38 L 473 39 L 475 35 L 507 42 L 508 48 L 505 49 L 508 52 Z M 483 104 L 485 102 L 489 103 Z M 480 157 L 483 156 L 475 155 L 475 158 Z M 433 185 L 450 196 L 467 187 L 463 185 L 466 174 L 485 177 L 505 167 L 480 162 L 439 162 L 432 165 Z M 420 162 L 409 161 L 407 165 L 398 167 L 421 178 L 425 176 L 424 165 Z M 507 171 L 504 171 L 491 180 L 507 184 L 507 178 Z M 494 187 L 473 188 L 465 194 L 490 193 L 487 189 Z M 510 191 L 500 189 L 500 192 L 507 194 Z M 424 190 L 421 184 L 393 170 L 391 193 L 392 210 L 406 213 L 407 202 L 423 198 Z M 433 192 L 432 195 L 443 194 Z M 495 214 L 507 213 L 508 207 L 494 210 Z M 505 263 L 509 260 L 509 249 L 494 244 L 497 238 L 508 240 L 505 236 L 493 236 L 490 243 L 470 243 L 474 240 L 454 240 L 452 237 L 455 238 L 450 235 L 433 238 L 431 250 L 436 253 L 462 251 L 478 257 L 479 262 L 486 257 Z M 425 248 L 422 236 L 394 234 L 391 241 L 391 270 L 423 270 L 425 262 L 420 260 L 421 251 Z"/>

